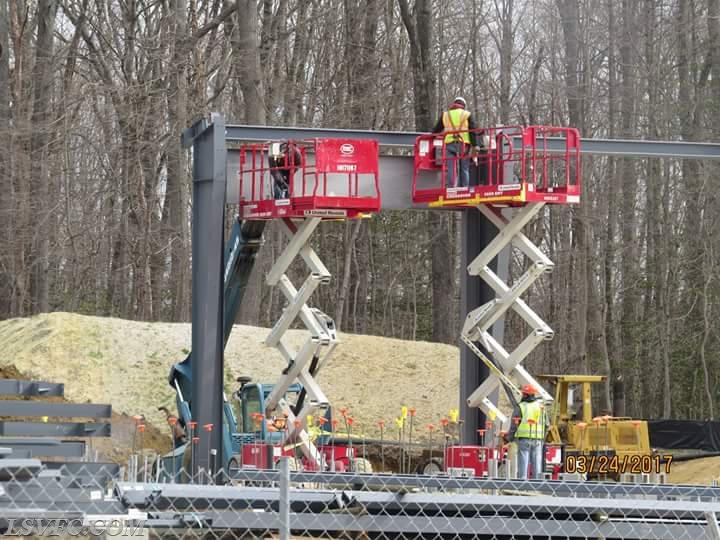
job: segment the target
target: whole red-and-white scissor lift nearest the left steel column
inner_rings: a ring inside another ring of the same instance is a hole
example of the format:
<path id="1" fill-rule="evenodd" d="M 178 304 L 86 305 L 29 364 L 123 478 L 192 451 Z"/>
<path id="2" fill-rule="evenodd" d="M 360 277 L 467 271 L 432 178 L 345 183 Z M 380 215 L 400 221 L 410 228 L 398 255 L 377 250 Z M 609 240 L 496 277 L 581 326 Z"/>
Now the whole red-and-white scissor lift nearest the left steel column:
<path id="1" fill-rule="evenodd" d="M 263 407 L 266 416 L 287 419 L 282 444 L 272 445 L 272 450 L 287 454 L 298 447 L 302 465 L 309 470 L 343 469 L 350 462 L 353 470 L 365 472 L 368 462 L 355 458 L 352 447 L 316 446 L 308 436 L 308 418 L 328 405 L 315 377 L 337 344 L 337 331 L 329 316 L 306 302 L 331 278 L 310 245 L 315 228 L 323 220 L 359 219 L 380 209 L 378 142 L 311 139 L 245 144 L 240 147 L 239 173 L 241 219 L 278 219 L 289 238 L 266 277 L 267 284 L 277 286 L 287 300 L 265 339 L 287 362 Z M 281 189 L 276 191 L 276 187 Z M 286 272 L 298 257 L 310 274 L 296 288 Z M 296 318 L 309 331 L 299 349 L 284 339 Z M 307 397 L 302 410 L 294 412 L 286 395 L 296 383 Z"/>

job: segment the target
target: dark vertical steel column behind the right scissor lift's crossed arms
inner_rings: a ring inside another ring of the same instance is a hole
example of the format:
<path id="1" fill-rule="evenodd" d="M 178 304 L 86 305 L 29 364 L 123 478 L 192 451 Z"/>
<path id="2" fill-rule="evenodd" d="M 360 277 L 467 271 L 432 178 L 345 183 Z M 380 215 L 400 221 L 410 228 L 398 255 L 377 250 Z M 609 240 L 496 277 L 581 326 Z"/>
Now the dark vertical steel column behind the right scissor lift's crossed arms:
<path id="1" fill-rule="evenodd" d="M 478 306 L 495 298 L 495 292 L 482 279 L 470 276 L 467 267 L 480 252 L 495 238 L 496 229 L 485 216 L 475 208 L 462 210 L 460 232 L 460 321 L 465 321 L 468 313 Z M 509 264 L 509 249 L 504 249 L 490 264 L 490 268 L 501 279 L 507 281 Z M 502 343 L 505 317 L 500 317 L 492 328 L 493 337 Z M 485 354 L 488 351 L 479 343 L 477 347 Z M 476 407 L 468 407 L 468 397 L 490 375 L 488 368 L 478 357 L 460 343 L 460 419 L 462 420 L 462 440 L 464 444 L 480 444 L 478 429 L 485 428 L 485 414 Z M 498 396 L 489 396 L 497 403 Z M 486 442 L 488 438 L 486 437 Z"/>

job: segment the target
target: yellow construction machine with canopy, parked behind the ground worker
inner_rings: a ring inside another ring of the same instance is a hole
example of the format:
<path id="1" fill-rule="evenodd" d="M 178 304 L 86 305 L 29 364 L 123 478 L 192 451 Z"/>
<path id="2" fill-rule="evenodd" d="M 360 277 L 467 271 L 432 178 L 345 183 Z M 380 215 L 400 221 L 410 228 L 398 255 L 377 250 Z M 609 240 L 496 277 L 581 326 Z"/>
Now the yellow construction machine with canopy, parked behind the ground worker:
<path id="1" fill-rule="evenodd" d="M 563 447 L 565 472 L 618 477 L 657 468 L 647 422 L 593 414 L 591 387 L 603 383 L 605 376 L 541 375 L 538 379 L 555 389 L 547 444 Z M 581 404 L 576 408 L 577 390 Z"/>

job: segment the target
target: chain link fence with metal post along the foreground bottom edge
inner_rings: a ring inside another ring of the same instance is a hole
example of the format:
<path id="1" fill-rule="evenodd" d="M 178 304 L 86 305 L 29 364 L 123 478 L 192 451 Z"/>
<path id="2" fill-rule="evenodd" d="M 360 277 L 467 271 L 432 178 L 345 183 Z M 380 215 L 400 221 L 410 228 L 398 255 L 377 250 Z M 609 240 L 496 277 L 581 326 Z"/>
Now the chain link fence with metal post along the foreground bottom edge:
<path id="1" fill-rule="evenodd" d="M 187 475 L 187 482 L 178 483 L 153 467 L 117 471 L 80 463 L 49 469 L 35 460 L 0 460 L 0 532 L 6 537 L 720 540 L 717 487 L 314 473 L 292 470 L 293 465 L 282 458 L 274 470 L 231 469 L 214 479 Z"/>

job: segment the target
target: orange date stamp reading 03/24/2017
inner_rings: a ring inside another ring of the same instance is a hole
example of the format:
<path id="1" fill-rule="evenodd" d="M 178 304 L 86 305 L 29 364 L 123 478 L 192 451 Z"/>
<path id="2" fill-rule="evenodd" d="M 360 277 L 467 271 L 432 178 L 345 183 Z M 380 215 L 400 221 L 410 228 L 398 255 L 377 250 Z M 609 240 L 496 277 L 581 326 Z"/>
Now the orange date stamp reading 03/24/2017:
<path id="1" fill-rule="evenodd" d="M 566 473 L 578 474 L 670 474 L 673 457 L 668 455 L 566 455 Z"/>

